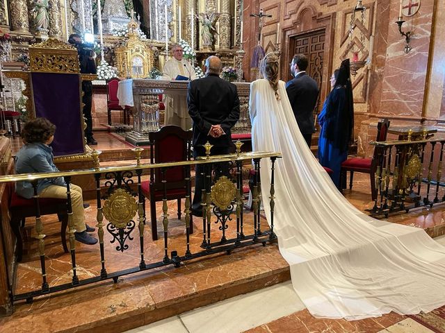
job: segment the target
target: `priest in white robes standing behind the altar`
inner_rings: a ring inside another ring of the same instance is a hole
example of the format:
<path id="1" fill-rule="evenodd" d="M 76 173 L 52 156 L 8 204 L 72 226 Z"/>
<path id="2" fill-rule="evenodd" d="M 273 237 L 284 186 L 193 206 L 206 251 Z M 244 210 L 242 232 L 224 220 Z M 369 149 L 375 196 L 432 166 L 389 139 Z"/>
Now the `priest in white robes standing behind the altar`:
<path id="1" fill-rule="evenodd" d="M 191 62 L 183 58 L 184 50 L 179 44 L 172 46 L 172 56 L 163 68 L 164 80 L 195 80 L 195 69 Z M 184 130 L 192 126 L 188 115 L 186 95 L 165 96 L 164 125 L 177 125 Z"/>

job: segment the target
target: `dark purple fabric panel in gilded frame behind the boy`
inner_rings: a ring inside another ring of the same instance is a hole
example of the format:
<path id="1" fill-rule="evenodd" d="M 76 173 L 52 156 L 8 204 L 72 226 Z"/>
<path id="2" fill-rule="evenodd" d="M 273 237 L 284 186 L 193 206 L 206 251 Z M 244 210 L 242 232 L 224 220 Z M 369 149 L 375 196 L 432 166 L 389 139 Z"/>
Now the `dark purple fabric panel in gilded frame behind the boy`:
<path id="1" fill-rule="evenodd" d="M 84 153 L 80 77 L 76 74 L 31 73 L 35 117 L 57 126 L 54 156 Z"/>

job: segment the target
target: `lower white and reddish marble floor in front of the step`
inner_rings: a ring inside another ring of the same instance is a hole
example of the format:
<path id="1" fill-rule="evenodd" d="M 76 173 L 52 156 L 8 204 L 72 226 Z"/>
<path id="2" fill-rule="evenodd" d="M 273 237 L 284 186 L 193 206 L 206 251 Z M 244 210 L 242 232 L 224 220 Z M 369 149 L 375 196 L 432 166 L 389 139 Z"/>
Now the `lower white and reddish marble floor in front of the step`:
<path id="1" fill-rule="evenodd" d="M 445 246 L 445 236 L 435 240 Z M 445 307 L 432 311 L 427 315 L 434 318 L 427 323 L 394 313 L 361 321 L 318 319 L 309 314 L 287 281 L 127 333 L 432 333 L 445 332 L 444 314 Z"/>

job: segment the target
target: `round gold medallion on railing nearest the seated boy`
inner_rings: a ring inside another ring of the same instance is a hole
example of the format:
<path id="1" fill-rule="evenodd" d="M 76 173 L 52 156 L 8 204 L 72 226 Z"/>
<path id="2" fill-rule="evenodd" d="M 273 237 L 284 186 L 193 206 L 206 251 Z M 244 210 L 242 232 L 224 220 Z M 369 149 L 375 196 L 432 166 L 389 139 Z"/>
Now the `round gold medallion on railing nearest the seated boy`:
<path id="1" fill-rule="evenodd" d="M 138 204 L 135 198 L 124 189 L 116 189 L 104 203 L 105 219 L 118 229 L 125 228 L 137 210 Z"/>

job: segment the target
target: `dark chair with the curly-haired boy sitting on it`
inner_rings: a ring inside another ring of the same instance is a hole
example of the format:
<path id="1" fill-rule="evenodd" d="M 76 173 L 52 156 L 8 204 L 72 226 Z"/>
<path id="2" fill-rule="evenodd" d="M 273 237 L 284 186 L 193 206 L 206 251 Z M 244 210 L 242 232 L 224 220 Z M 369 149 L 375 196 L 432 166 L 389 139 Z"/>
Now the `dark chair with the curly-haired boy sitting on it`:
<path id="1" fill-rule="evenodd" d="M 17 238 L 17 262 L 22 261 L 23 255 L 23 237 L 22 229 L 24 228 L 26 217 L 35 216 L 35 200 L 34 198 L 26 199 L 18 196 L 15 193 L 14 185 L 8 185 L 9 191 L 9 210 L 11 214 L 10 225 L 13 229 L 15 237 Z M 40 216 L 57 214 L 60 225 L 60 238 L 62 239 L 62 246 L 65 253 L 68 253 L 67 247 L 67 199 L 56 198 L 39 198 Z"/>

